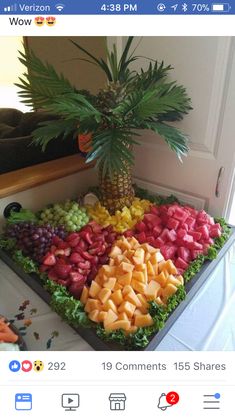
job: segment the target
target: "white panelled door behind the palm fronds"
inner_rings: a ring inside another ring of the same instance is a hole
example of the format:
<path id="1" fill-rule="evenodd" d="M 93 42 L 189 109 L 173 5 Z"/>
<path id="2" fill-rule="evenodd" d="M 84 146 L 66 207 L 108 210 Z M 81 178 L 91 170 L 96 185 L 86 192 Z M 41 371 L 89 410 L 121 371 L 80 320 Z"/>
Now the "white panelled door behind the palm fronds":
<path id="1" fill-rule="evenodd" d="M 116 40 L 119 48 L 125 39 Z M 214 216 L 226 214 L 234 171 L 234 49 L 231 37 L 144 37 L 136 50 L 174 67 L 171 78 L 186 86 L 193 110 L 177 123 L 190 137 L 183 164 L 161 138 L 144 131 L 136 147 L 135 176 L 156 190 L 188 196 Z M 145 62 L 141 59 L 136 69 Z"/>

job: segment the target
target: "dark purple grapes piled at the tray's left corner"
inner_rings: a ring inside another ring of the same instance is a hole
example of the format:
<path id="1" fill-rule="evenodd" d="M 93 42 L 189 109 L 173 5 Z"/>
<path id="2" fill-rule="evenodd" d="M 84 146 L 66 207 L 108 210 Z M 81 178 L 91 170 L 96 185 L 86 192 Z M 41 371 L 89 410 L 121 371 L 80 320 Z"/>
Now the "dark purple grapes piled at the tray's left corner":
<path id="1" fill-rule="evenodd" d="M 49 224 L 19 222 L 8 225 L 5 235 L 16 240 L 17 248 L 22 250 L 24 255 L 40 263 L 45 254 L 50 251 L 53 237 L 65 239 L 67 234 L 61 225 L 53 227 Z"/>

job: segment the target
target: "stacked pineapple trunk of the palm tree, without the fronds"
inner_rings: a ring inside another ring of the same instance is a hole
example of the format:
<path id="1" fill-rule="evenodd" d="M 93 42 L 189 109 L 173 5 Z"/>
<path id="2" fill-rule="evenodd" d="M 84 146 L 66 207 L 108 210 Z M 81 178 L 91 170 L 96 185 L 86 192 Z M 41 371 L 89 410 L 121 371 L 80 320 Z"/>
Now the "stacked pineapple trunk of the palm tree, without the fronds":
<path id="1" fill-rule="evenodd" d="M 122 210 L 124 206 L 131 206 L 134 199 L 134 189 L 130 166 L 127 167 L 125 173 L 115 173 L 112 179 L 109 176 L 102 177 L 102 170 L 100 170 L 99 185 L 101 203 L 111 214 L 114 214 L 116 210 Z"/>

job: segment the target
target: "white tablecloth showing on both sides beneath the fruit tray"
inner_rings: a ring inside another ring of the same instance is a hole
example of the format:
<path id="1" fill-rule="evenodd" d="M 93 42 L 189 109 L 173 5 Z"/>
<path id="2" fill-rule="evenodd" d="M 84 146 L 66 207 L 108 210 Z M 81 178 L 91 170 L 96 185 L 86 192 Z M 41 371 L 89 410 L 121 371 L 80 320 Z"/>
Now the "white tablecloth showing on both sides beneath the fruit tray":
<path id="1" fill-rule="evenodd" d="M 26 309 L 20 306 L 25 301 Z M 24 318 L 15 318 L 19 314 Z M 0 260 L 0 314 L 26 325 L 29 350 L 92 350 Z M 220 261 L 157 350 L 235 350 L 235 245 Z M 30 320 L 30 322 L 28 322 Z"/>

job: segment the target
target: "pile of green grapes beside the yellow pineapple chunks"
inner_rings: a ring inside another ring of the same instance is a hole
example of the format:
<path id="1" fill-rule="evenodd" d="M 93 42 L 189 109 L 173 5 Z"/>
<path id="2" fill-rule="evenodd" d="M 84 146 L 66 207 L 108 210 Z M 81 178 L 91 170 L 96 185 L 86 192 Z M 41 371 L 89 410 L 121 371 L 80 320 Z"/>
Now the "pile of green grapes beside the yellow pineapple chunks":
<path id="1" fill-rule="evenodd" d="M 40 214 L 40 223 L 53 226 L 63 225 L 68 232 L 79 231 L 89 222 L 86 209 L 72 200 L 56 203 L 44 209 Z"/>

